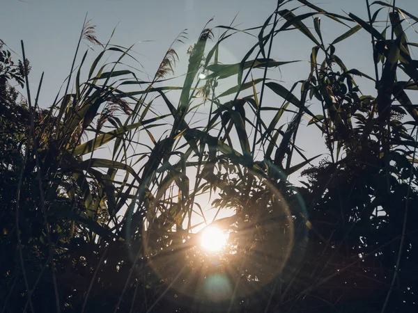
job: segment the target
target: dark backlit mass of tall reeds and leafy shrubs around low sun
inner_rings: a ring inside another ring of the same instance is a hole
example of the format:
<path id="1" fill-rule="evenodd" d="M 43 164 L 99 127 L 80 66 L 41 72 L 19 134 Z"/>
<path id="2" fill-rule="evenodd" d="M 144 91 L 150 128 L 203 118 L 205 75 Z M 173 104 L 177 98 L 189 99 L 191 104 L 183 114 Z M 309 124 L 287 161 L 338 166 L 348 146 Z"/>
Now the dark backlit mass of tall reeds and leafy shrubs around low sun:
<path id="1" fill-rule="evenodd" d="M 42 79 L 31 96 L 23 43 L 18 63 L 1 45 L 1 312 L 416 312 L 418 44 L 406 30 L 418 18 L 366 3 L 361 18 L 278 1 L 262 26 L 220 26 L 210 49 L 205 28 L 180 87 L 168 85 L 185 33 L 142 80 L 125 65 L 131 50 L 85 22 L 49 109 Z M 346 32 L 325 45 L 321 19 Z M 271 58 L 284 31 L 311 44 L 291 88 L 268 77 L 296 64 Z M 237 32 L 255 34 L 254 47 L 223 64 L 219 47 Z M 338 57 L 357 32 L 371 38 L 373 73 Z M 82 40 L 102 49 L 90 67 L 87 52 L 75 66 Z M 300 149 L 307 118 L 326 155 Z M 234 212 L 212 223 L 229 232 L 219 255 L 194 231 L 208 196 Z"/>

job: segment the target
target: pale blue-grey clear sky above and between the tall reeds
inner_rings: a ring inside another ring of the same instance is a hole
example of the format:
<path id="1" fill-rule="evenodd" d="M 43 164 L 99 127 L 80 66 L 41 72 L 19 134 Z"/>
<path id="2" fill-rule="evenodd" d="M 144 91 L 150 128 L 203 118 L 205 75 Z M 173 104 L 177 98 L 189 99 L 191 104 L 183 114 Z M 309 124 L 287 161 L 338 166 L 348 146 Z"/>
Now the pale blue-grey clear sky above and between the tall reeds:
<path id="1" fill-rule="evenodd" d="M 96 35 L 100 41 L 106 42 L 117 26 L 113 44 L 129 47 L 139 42 L 134 47 L 134 51 L 149 74 L 155 72 L 173 39 L 180 31 L 188 29 L 189 42 L 176 46 L 180 56 L 176 74 L 183 74 L 187 69 L 188 60 L 185 51 L 196 41 L 209 19 L 215 18 L 210 23 L 210 27 L 229 25 L 238 14 L 234 25 L 239 29 L 246 29 L 262 25 L 277 5 L 276 0 L 1 0 L 1 2 L 0 39 L 17 54 L 21 54 L 20 40 L 24 40 L 26 57 L 31 61 L 32 67 L 30 76 L 32 90 L 36 90 L 40 74 L 42 71 L 45 72 L 40 97 L 40 105 L 43 107 L 52 104 L 61 83 L 68 75 L 86 12 L 88 19 L 93 19 L 92 24 L 96 26 Z M 333 13 L 344 15 L 344 12 L 351 12 L 367 19 L 365 0 L 312 0 L 311 2 Z M 397 0 L 396 5 L 418 16 L 418 0 Z M 296 1 L 293 6 L 297 6 Z M 385 14 L 382 15 L 383 17 Z M 343 26 L 330 22 L 325 17 L 321 21 L 325 43 L 332 42 L 347 31 Z M 418 26 L 415 29 L 418 29 Z M 214 34 L 216 40 L 219 31 L 215 30 Z M 219 61 L 238 63 L 256 41 L 256 38 L 247 35 L 234 35 L 222 46 Z M 282 67 L 280 70 L 270 72 L 270 75 L 287 84 L 288 88 L 295 81 L 305 79 L 309 73 L 309 64 L 306 61 L 309 60 L 311 47 L 313 47 L 312 42 L 296 31 L 278 36 L 274 41 L 272 58 L 278 61 L 304 60 L 305 62 Z M 82 44 L 81 52 L 84 53 L 86 49 L 88 46 Z M 90 60 L 97 56 L 98 51 L 99 48 L 90 54 Z M 370 36 L 364 31 L 336 45 L 336 54 L 349 68 L 357 68 L 373 76 Z M 141 78 L 146 79 L 146 77 Z M 178 81 L 178 86 L 181 85 L 182 82 Z M 364 94 L 374 95 L 374 90 L 368 90 L 371 88 L 370 84 L 366 83 L 364 86 L 365 88 L 362 88 Z M 274 106 L 275 99 L 277 98 L 266 97 L 265 102 L 270 101 L 272 102 L 270 105 Z M 320 135 L 315 134 L 314 127 L 301 127 L 300 135 L 307 138 L 302 144 L 308 154 L 318 154 Z M 311 138 L 316 138 L 316 141 Z"/>

